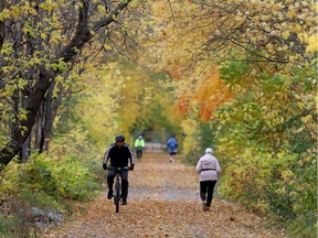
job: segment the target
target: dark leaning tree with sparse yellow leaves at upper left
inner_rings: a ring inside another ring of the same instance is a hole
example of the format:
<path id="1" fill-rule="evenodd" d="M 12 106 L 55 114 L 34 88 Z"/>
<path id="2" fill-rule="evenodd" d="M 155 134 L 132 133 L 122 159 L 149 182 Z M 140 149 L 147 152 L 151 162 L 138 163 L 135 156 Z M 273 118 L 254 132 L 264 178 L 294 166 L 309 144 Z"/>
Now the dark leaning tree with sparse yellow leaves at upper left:
<path id="1" fill-rule="evenodd" d="M 1 144 L 0 170 L 21 153 L 36 115 L 39 122 L 47 123 L 52 119 L 51 90 L 56 77 L 72 68 L 84 46 L 92 40 L 96 41 L 95 35 L 104 33 L 110 37 L 112 31 L 115 31 L 110 24 L 116 22 L 120 25 L 119 17 L 125 17 L 124 10 L 130 2 L 1 1 L 0 111 L 3 125 L 11 127 L 3 126 L 4 132 L 1 131 L 7 143 Z M 46 120 L 43 120 L 45 117 Z M 40 127 L 43 128 L 43 125 L 40 123 Z M 44 126 L 44 131 L 39 133 L 47 132 L 49 128 Z M 40 147 L 43 139 L 39 142 Z"/>

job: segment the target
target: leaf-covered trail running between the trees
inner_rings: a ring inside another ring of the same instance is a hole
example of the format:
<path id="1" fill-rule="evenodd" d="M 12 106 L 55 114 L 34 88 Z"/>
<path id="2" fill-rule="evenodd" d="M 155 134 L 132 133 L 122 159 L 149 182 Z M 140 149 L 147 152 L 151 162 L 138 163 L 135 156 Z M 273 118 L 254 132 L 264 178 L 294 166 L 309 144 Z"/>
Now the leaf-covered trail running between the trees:
<path id="1" fill-rule="evenodd" d="M 145 154 L 129 173 L 128 205 L 118 214 L 106 192 L 57 229 L 42 237 L 284 237 L 265 230 L 262 219 L 244 208 L 213 198 L 203 212 L 194 167 L 167 154 Z"/>

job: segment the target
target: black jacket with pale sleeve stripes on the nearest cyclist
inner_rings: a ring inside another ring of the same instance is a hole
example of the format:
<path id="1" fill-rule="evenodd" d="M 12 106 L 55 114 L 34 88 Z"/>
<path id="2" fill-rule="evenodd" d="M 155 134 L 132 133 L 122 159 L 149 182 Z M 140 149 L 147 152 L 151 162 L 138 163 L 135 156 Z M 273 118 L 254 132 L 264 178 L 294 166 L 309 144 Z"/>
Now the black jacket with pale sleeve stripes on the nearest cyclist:
<path id="1" fill-rule="evenodd" d="M 130 159 L 130 165 L 135 165 L 135 158 L 131 149 L 128 144 L 124 143 L 121 148 L 118 148 L 116 143 L 112 144 L 104 155 L 103 163 L 107 164 L 110 159 L 110 166 L 123 167 L 128 166 Z"/>

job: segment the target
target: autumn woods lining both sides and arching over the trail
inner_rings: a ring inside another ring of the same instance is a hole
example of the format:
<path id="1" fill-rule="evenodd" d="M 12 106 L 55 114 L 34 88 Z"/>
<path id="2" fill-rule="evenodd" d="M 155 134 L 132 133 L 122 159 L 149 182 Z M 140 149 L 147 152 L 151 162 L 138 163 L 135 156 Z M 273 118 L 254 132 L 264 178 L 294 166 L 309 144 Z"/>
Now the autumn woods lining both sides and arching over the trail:
<path id="1" fill-rule="evenodd" d="M 316 237 L 316 107 L 315 1 L 0 2 L 10 213 L 72 213 L 100 190 L 116 133 L 167 131 L 186 163 L 213 148 L 224 199 Z"/>

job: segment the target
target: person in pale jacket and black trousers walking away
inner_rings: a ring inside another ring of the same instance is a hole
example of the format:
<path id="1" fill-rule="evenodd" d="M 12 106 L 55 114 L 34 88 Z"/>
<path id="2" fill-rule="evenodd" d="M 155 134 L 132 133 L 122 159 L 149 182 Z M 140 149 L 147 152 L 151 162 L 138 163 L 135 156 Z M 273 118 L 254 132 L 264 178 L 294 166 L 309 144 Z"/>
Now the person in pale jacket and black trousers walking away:
<path id="1" fill-rule="evenodd" d="M 195 171 L 200 173 L 200 197 L 203 210 L 209 212 L 213 198 L 214 186 L 218 182 L 221 166 L 211 148 L 205 149 L 205 154 L 200 158 Z M 208 193 L 208 196 L 206 196 Z"/>

